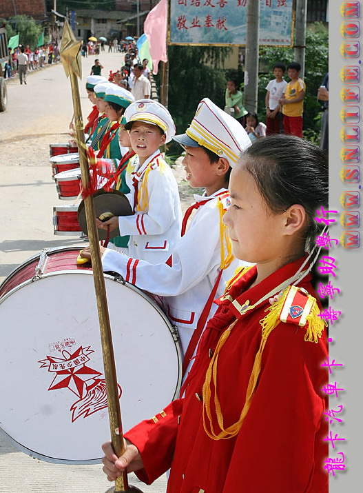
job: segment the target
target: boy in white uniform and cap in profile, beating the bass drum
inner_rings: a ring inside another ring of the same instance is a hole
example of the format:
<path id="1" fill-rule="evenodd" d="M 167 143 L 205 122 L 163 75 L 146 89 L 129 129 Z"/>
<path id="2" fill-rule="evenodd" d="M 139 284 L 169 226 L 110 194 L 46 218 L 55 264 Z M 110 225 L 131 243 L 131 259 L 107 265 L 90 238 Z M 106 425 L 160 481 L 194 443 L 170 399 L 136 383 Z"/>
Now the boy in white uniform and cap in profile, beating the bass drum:
<path id="1" fill-rule="evenodd" d="M 101 252 L 105 272 L 118 272 L 138 288 L 165 296 L 167 315 L 180 335 L 185 374 L 205 322 L 216 311 L 213 300 L 222 296 L 226 281 L 240 265 L 231 254 L 222 216 L 229 201 L 230 167 L 251 141 L 238 121 L 207 98 L 200 101 L 186 134 L 174 140 L 186 150 L 187 181 L 193 188 L 205 187 L 205 194 L 194 195 L 196 203 L 185 213 L 182 237 L 172 257 L 167 263 L 150 265 L 112 250 L 101 248 Z"/>

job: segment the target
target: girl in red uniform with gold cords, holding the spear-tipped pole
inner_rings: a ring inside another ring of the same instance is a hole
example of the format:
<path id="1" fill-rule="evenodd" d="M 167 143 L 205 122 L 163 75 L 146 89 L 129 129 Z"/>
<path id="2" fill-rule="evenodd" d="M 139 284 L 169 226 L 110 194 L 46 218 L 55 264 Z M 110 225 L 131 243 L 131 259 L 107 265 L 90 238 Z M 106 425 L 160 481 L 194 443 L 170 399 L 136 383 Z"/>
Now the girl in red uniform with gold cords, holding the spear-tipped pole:
<path id="1" fill-rule="evenodd" d="M 183 397 L 125 434 L 121 458 L 105 443 L 103 470 L 152 483 L 171 467 L 169 493 L 327 493 L 326 330 L 309 273 L 326 156 L 297 137 L 257 140 L 229 190 L 234 254 L 256 265 L 218 299 Z"/>

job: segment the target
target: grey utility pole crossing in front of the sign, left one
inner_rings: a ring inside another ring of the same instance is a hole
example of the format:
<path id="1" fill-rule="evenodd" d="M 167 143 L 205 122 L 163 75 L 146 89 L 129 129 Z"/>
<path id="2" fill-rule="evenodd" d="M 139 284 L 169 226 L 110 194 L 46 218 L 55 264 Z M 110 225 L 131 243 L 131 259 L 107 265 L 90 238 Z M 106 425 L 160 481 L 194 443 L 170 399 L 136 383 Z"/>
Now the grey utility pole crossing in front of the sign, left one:
<path id="1" fill-rule="evenodd" d="M 249 0 L 247 4 L 245 108 L 257 111 L 258 96 L 258 39 L 260 33 L 260 2 Z"/>

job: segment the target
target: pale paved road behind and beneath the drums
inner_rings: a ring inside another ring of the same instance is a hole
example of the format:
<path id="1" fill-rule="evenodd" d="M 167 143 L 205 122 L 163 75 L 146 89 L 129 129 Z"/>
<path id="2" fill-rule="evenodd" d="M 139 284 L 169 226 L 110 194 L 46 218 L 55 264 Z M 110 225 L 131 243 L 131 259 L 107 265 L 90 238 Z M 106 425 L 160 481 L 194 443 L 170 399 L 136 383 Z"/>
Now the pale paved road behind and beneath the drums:
<path id="1" fill-rule="evenodd" d="M 98 58 L 105 75 L 121 66 L 120 54 L 106 52 Z M 93 62 L 94 57 L 83 59 L 84 74 L 90 73 Z M 85 76 L 81 82 L 85 117 L 90 103 L 84 85 Z M 52 228 L 52 208 L 64 202 L 59 201 L 51 179 L 48 145 L 68 139 L 72 117 L 70 82 L 63 67 L 57 64 L 30 73 L 27 85 L 10 81 L 8 100 L 8 111 L 0 113 L 0 280 L 45 247 L 82 244 L 78 237 L 54 236 Z M 1 321 L 1 330 L 11 330 L 10 325 L 11 321 Z M 1 395 L 3 399 L 6 396 Z M 132 483 L 141 486 L 136 479 Z M 162 493 L 165 484 L 164 477 L 141 487 L 144 492 Z M 0 434 L 1 493 L 101 493 L 108 487 L 100 465 L 56 465 L 32 459 Z"/>

